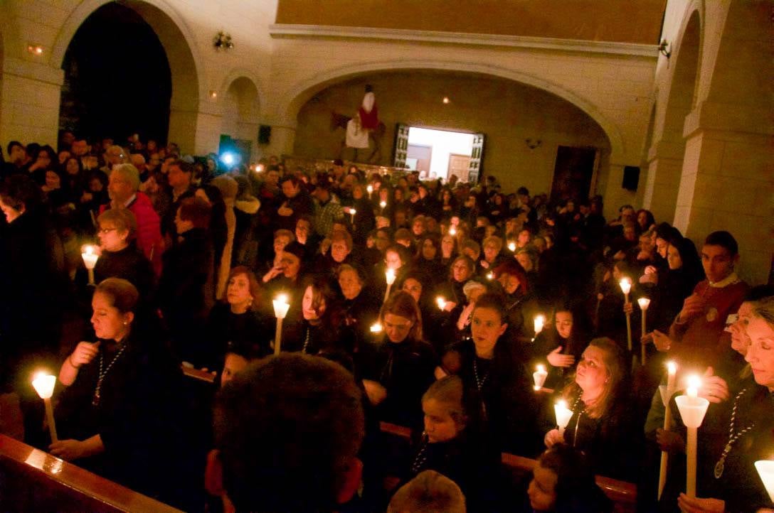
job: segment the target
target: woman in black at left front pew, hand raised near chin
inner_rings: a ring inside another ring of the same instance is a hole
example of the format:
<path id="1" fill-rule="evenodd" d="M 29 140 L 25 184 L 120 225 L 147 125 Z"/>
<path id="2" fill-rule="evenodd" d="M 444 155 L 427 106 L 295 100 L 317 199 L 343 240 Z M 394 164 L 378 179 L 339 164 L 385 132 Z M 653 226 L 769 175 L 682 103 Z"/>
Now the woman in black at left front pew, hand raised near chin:
<path id="1" fill-rule="evenodd" d="M 120 278 L 94 290 L 96 341 L 81 341 L 62 364 L 60 440 L 50 452 L 152 497 L 175 501 L 184 467 L 183 375 L 137 315 L 139 293 Z"/>

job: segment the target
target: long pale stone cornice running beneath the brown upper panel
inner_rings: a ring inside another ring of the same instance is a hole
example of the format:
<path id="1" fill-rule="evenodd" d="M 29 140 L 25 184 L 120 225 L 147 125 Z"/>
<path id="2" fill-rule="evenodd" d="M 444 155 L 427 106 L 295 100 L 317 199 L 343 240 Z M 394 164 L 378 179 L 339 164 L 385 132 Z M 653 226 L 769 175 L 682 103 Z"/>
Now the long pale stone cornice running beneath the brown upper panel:
<path id="1" fill-rule="evenodd" d="M 494 46 L 523 49 L 546 49 L 572 53 L 601 53 L 657 59 L 656 45 L 630 42 L 587 41 L 500 34 L 471 34 L 467 32 L 440 32 L 434 30 L 375 29 L 371 27 L 344 27 L 335 25 L 269 25 L 269 34 L 276 39 L 370 39 L 380 41 L 440 42 L 449 45 Z"/>

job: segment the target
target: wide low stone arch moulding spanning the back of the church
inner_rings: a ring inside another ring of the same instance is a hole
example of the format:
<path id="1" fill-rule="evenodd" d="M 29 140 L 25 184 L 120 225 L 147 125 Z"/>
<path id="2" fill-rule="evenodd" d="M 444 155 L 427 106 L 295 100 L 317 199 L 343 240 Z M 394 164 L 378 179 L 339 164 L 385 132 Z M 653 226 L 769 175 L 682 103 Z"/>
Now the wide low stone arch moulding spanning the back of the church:
<path id="1" fill-rule="evenodd" d="M 444 70 L 444 71 L 456 71 L 467 72 L 480 75 L 496 76 L 515 82 L 524 83 L 526 85 L 536 87 L 540 90 L 545 90 L 549 93 L 553 93 L 557 97 L 567 100 L 570 104 L 574 104 L 576 107 L 583 110 L 588 114 L 591 119 L 596 121 L 602 128 L 604 133 L 608 137 L 611 147 L 611 158 L 618 160 L 625 155 L 625 144 L 622 138 L 622 134 L 618 127 L 610 121 L 604 114 L 598 110 L 590 101 L 585 100 L 577 94 L 558 86 L 548 80 L 544 80 L 537 76 L 532 76 L 527 73 L 522 73 L 516 70 L 509 70 L 500 66 L 491 66 L 484 63 L 456 63 L 446 61 L 430 61 L 430 60 L 394 60 L 394 61 L 382 61 L 375 63 L 362 63 L 354 66 L 344 66 L 336 70 L 330 70 L 326 73 L 320 73 L 317 76 L 313 76 L 310 79 L 304 80 L 289 90 L 283 100 L 278 102 L 279 110 L 277 117 L 281 123 L 289 126 L 295 126 L 296 116 L 299 113 L 300 108 L 314 96 L 315 93 L 320 90 L 324 90 L 330 85 L 355 78 L 357 76 L 365 75 L 368 73 L 387 72 L 387 71 L 401 71 L 401 70 Z"/>

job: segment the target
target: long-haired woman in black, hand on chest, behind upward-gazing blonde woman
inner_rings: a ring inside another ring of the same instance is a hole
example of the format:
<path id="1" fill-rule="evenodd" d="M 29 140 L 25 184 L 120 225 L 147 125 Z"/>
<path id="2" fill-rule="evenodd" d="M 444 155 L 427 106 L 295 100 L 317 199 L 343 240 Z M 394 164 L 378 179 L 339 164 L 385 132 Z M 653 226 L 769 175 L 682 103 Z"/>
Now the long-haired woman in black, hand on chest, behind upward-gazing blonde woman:
<path id="1" fill-rule="evenodd" d="M 591 322 L 583 304 L 568 300 L 553 307 L 553 323 L 535 338 L 533 355 L 546 365 L 548 376 L 545 387 L 563 388 L 565 380 L 575 373 L 588 341 L 591 340 Z"/>

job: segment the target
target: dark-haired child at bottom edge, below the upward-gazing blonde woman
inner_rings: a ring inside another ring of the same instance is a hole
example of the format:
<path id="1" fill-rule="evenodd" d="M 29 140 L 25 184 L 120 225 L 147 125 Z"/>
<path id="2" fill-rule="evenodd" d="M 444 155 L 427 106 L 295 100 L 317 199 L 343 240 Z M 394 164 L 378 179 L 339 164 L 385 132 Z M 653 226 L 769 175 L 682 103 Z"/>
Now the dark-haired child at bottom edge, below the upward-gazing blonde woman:
<path id="1" fill-rule="evenodd" d="M 557 443 L 541 454 L 522 513 L 611 513 L 613 505 L 595 481 L 581 450 Z"/>

